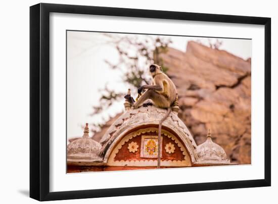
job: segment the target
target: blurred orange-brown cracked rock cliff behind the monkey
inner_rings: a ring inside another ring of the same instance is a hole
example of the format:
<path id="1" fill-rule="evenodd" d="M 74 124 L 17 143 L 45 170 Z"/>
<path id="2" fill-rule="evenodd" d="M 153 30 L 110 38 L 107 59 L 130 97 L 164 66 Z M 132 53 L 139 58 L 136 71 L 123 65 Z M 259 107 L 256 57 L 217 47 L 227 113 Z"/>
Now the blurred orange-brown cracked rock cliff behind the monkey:
<path id="1" fill-rule="evenodd" d="M 194 41 L 160 56 L 177 87 L 179 118 L 199 145 L 210 129 L 231 162 L 251 164 L 251 60 Z"/>

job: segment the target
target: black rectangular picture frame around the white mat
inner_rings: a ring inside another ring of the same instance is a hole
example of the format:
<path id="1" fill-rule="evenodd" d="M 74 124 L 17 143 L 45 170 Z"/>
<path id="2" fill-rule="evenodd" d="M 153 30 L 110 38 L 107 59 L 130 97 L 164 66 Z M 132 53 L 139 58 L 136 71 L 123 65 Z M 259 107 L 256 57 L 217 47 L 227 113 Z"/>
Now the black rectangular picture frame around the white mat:
<path id="1" fill-rule="evenodd" d="M 50 192 L 50 13 L 173 19 L 264 25 L 264 179 Z M 154 11 L 76 5 L 30 7 L 30 197 L 61 200 L 271 185 L 271 19 L 262 17 Z"/>

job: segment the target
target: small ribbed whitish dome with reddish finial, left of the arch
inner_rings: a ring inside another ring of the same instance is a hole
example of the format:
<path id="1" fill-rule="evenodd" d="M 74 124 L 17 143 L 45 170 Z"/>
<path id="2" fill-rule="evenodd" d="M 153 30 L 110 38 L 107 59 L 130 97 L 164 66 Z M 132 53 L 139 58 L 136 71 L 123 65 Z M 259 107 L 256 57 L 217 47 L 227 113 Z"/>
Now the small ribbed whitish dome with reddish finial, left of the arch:
<path id="1" fill-rule="evenodd" d="M 86 123 L 83 136 L 68 144 L 68 159 L 98 159 L 101 147 L 99 142 L 89 138 L 89 128 Z"/>

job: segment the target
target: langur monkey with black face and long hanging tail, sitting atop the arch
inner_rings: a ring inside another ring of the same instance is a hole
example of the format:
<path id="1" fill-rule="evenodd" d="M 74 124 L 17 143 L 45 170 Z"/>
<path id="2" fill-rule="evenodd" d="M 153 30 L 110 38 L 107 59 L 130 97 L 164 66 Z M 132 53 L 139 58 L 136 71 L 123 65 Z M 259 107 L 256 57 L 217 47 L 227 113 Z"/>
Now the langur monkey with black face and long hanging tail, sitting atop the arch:
<path id="1" fill-rule="evenodd" d="M 153 64 L 150 66 L 150 74 L 153 77 L 152 85 L 143 85 L 138 88 L 138 94 L 141 94 L 143 90 L 145 91 L 138 100 L 134 103 L 134 99 L 131 95 L 125 95 L 124 97 L 128 99 L 129 103 L 132 105 L 134 109 L 142 106 L 144 101 L 147 99 L 151 99 L 155 106 L 163 109 L 167 109 L 167 113 L 161 119 L 158 126 L 158 161 L 157 168 L 160 168 L 160 160 L 161 160 L 161 126 L 163 121 L 169 116 L 171 112 L 171 106 L 173 105 L 176 99 L 176 87 L 172 80 L 162 72 L 160 66 Z"/>

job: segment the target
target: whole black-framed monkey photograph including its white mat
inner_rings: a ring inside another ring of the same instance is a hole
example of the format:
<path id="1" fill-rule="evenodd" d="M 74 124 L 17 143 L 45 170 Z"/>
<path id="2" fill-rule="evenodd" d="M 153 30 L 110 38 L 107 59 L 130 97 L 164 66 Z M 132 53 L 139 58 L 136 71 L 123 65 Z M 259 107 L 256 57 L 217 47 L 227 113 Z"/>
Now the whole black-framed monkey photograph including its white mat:
<path id="1" fill-rule="evenodd" d="M 270 186 L 270 26 L 30 7 L 30 197 Z"/>

